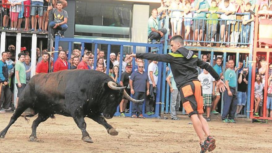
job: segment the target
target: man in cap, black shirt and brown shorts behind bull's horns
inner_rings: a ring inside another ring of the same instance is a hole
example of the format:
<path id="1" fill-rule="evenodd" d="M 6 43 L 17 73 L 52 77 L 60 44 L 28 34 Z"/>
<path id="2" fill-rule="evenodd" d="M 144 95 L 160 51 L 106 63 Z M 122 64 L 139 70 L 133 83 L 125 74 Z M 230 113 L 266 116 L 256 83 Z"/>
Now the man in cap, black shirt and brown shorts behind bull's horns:
<path id="1" fill-rule="evenodd" d="M 130 95 L 130 75 L 132 71 L 132 65 L 131 63 L 127 63 L 125 67 L 125 72 L 121 75 L 120 85 L 125 88 L 125 91 Z M 125 117 L 125 108 L 127 105 L 128 100 L 123 97 L 122 101 L 120 102 L 120 116 L 119 117 Z"/>

